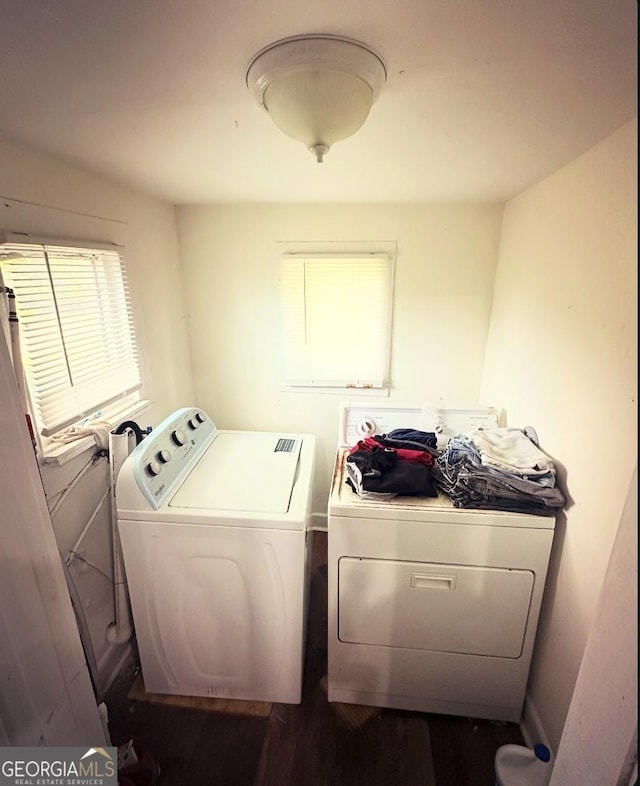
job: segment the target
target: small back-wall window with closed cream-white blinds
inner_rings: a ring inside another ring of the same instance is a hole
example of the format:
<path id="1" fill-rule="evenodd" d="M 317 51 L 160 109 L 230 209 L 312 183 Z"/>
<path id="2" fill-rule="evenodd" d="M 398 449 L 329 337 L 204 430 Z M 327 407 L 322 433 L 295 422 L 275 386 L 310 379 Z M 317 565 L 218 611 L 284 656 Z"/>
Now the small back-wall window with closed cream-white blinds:
<path id="1" fill-rule="evenodd" d="M 392 284 L 389 254 L 285 254 L 285 385 L 387 388 Z"/>

